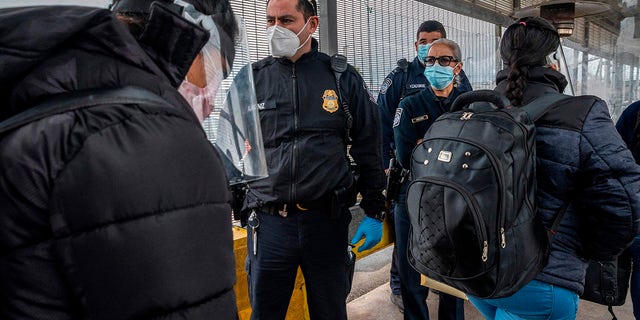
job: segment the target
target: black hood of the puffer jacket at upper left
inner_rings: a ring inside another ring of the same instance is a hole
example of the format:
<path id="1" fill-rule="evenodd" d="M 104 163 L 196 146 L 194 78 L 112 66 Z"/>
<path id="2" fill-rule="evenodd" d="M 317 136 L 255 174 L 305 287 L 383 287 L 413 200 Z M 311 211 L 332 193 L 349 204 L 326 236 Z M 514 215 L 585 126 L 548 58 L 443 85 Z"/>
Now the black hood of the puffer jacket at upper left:
<path id="1" fill-rule="evenodd" d="M 162 93 L 167 86 L 176 88 L 208 33 L 177 14 L 156 13 L 161 14 L 162 23 L 149 23 L 137 40 L 106 9 L 0 10 L 0 120 L 77 90 L 138 85 Z"/>

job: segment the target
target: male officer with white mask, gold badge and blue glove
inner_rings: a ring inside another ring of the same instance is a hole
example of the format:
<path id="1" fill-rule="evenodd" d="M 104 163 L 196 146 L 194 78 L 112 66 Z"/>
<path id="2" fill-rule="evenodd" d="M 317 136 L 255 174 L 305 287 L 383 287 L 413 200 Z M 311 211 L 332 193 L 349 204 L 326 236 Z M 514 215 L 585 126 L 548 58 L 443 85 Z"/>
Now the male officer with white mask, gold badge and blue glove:
<path id="1" fill-rule="evenodd" d="M 378 109 L 353 67 L 342 71 L 346 61 L 334 59 L 332 68 L 332 58 L 318 51 L 311 37 L 317 27 L 315 1 L 267 2 L 271 56 L 253 72 L 269 177 L 249 183 L 244 206 L 254 320 L 285 318 L 298 267 L 311 318 L 346 319 L 349 206 L 356 192 L 366 216 L 352 243 L 365 238 L 362 251 L 382 237 Z"/>

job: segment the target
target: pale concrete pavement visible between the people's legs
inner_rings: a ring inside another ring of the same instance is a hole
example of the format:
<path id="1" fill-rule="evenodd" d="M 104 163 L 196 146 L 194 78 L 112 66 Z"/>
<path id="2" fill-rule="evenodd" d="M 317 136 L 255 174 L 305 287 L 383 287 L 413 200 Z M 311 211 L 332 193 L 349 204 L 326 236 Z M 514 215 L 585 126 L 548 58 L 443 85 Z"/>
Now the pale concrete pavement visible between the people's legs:
<path id="1" fill-rule="evenodd" d="M 391 265 L 392 247 L 380 250 L 356 262 L 353 288 L 347 299 L 349 320 L 401 320 L 402 313 L 389 299 L 389 268 Z M 430 293 L 427 298 L 429 316 L 437 319 L 438 295 Z M 619 320 L 633 320 L 631 297 L 627 302 L 613 308 Z M 580 301 L 578 307 L 579 320 L 610 320 L 611 314 L 606 306 Z M 465 303 L 465 320 L 484 319 L 469 302 Z"/>

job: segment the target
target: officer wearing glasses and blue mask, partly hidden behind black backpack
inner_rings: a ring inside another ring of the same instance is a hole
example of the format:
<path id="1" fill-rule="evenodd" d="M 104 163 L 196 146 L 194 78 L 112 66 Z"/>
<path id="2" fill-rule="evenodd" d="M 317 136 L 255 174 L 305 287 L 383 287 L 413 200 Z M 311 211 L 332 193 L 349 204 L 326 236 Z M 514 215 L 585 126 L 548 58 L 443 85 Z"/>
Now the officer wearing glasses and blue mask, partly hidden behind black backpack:
<path id="1" fill-rule="evenodd" d="M 429 87 L 400 102 L 393 120 L 398 161 L 409 168 L 411 152 L 422 140 L 433 121 L 449 111 L 455 98 L 466 89 L 457 83 L 462 72 L 462 54 L 460 47 L 448 39 L 439 39 L 432 43 L 425 58 L 425 77 Z M 395 207 L 396 248 L 398 250 L 398 270 L 402 280 L 402 300 L 405 319 L 428 319 L 429 310 L 425 300 L 429 291 L 420 285 L 420 275 L 407 261 L 407 243 L 409 240 L 409 214 L 406 206 L 406 191 L 409 181 L 400 189 Z M 404 235 L 404 236 L 401 236 Z M 464 319 L 464 301 L 454 296 L 440 293 L 438 319 Z"/>

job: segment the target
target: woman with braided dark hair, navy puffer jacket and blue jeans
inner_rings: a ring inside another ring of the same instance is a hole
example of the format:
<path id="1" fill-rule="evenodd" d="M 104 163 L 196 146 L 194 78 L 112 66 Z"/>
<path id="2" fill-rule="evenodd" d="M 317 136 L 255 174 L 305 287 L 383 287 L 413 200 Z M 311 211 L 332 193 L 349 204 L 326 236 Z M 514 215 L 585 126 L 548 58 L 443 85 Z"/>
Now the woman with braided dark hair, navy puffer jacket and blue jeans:
<path id="1" fill-rule="evenodd" d="M 563 92 L 568 82 L 547 60 L 559 45 L 558 33 L 543 18 L 516 21 L 500 42 L 505 69 L 497 74 L 496 90 L 514 107 Z M 604 101 L 567 96 L 536 121 L 536 140 L 537 217 L 551 229 L 566 210 L 547 264 L 534 280 L 505 298 L 469 296 L 487 319 L 575 319 L 587 255 L 613 260 L 638 231 L 640 170 Z M 581 219 L 603 216 L 612 218 L 598 232 L 585 231 Z"/>

